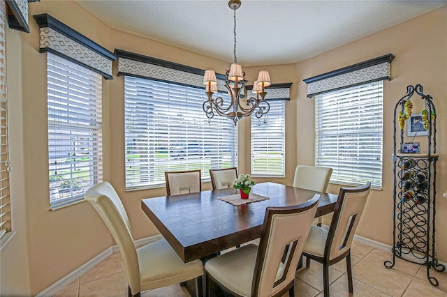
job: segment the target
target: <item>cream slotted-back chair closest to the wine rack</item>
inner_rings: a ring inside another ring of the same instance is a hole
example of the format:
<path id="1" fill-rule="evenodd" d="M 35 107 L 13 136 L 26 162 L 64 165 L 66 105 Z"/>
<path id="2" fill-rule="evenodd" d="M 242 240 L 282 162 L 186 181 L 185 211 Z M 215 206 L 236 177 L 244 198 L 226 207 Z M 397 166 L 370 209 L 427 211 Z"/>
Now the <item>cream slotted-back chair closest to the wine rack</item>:
<path id="1" fill-rule="evenodd" d="M 329 266 L 346 258 L 349 292 L 353 293 L 351 243 L 365 208 L 371 183 L 358 188 L 341 188 L 329 230 L 312 226 L 305 248 L 306 267 L 313 259 L 323 264 L 324 296 L 329 296 Z"/>

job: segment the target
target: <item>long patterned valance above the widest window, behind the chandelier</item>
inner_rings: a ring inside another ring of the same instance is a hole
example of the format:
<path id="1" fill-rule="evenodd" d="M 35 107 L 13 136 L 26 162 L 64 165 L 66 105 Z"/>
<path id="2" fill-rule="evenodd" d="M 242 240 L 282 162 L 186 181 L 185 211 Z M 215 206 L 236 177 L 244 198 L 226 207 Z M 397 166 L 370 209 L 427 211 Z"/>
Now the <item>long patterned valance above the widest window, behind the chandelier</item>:
<path id="1" fill-rule="evenodd" d="M 184 86 L 193 86 L 205 89 L 203 75 L 205 70 L 193 68 L 170 61 L 143 56 L 133 52 L 115 49 L 118 56 L 118 75 L 130 75 L 159 80 L 161 82 L 174 82 Z M 225 75 L 216 74 L 217 89 L 226 90 Z"/>

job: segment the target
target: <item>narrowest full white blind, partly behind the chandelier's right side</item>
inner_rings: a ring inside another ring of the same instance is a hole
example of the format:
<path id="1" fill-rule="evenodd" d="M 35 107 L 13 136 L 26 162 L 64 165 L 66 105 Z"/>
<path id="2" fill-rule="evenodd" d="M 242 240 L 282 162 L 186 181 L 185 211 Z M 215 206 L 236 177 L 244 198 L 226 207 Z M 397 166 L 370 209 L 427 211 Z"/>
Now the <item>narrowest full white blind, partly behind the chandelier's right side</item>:
<path id="1" fill-rule="evenodd" d="M 251 115 L 251 175 L 284 177 L 286 101 L 269 101 L 267 123 Z"/>

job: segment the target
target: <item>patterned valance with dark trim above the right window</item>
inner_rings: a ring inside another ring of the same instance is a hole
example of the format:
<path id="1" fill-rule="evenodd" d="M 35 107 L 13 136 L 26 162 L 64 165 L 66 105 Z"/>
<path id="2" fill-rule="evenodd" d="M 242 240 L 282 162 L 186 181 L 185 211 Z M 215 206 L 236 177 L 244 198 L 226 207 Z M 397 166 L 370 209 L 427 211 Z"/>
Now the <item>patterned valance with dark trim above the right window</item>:
<path id="1" fill-rule="evenodd" d="M 391 79 L 391 62 L 393 54 L 357 63 L 345 68 L 305 79 L 307 97 L 321 93 L 344 89 L 350 86 Z"/>

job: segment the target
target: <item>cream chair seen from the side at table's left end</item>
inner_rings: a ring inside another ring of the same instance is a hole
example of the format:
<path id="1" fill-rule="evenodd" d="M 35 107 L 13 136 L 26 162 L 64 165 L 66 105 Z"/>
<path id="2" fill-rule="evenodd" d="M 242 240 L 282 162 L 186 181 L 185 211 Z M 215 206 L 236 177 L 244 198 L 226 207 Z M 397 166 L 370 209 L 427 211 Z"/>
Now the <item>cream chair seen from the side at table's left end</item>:
<path id="1" fill-rule="evenodd" d="M 178 284 L 196 277 L 198 295 L 203 295 L 203 264 L 200 260 L 184 264 L 165 239 L 135 249 L 129 218 L 110 183 L 94 185 L 84 195 L 108 227 L 121 252 L 129 296 L 140 296 L 140 291 Z"/>

